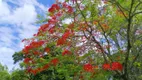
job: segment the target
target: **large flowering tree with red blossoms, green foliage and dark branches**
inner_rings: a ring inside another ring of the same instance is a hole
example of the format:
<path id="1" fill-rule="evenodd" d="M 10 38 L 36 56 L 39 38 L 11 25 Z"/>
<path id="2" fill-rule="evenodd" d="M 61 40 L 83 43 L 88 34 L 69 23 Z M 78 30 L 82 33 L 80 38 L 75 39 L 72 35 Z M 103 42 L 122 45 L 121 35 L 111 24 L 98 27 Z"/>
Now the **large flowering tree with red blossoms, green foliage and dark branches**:
<path id="1" fill-rule="evenodd" d="M 48 9 L 47 22 L 33 38 L 23 40 L 27 72 L 56 70 L 66 80 L 140 78 L 141 4 L 141 0 L 57 0 Z"/>

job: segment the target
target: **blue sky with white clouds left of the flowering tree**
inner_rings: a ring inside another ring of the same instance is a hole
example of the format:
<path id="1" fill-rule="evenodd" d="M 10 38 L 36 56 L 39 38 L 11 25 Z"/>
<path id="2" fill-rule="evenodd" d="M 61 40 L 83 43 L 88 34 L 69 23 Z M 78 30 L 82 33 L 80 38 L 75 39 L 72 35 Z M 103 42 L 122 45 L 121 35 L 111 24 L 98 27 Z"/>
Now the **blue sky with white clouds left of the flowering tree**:
<path id="1" fill-rule="evenodd" d="M 63 1 L 63 0 L 62 0 Z M 22 50 L 24 38 L 31 38 L 39 26 L 37 14 L 45 14 L 55 0 L 0 0 L 0 63 L 17 68 L 12 55 Z"/>

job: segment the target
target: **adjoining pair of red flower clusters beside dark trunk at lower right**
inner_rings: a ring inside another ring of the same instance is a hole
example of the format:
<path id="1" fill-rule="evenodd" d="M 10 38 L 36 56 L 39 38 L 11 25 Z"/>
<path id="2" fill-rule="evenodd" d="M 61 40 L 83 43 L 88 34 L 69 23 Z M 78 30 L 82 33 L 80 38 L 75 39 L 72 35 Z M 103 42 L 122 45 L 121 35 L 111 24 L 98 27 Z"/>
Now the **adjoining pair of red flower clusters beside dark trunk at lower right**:
<path id="1" fill-rule="evenodd" d="M 104 70 L 119 70 L 119 71 L 123 70 L 123 66 L 119 62 L 113 62 L 112 64 L 103 64 L 102 67 Z"/>

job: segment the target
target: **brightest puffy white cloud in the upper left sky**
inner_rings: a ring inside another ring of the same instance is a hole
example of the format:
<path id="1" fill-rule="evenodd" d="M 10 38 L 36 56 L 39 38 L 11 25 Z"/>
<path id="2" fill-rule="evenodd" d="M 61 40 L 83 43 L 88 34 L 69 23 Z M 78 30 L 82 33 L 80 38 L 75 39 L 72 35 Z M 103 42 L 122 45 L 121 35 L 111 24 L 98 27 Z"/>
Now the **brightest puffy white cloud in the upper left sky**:
<path id="1" fill-rule="evenodd" d="M 15 24 L 34 23 L 36 20 L 36 15 L 37 13 L 33 5 L 24 5 L 13 11 L 13 14 L 7 18 L 7 21 L 9 21 L 9 23 L 11 21 Z"/>

